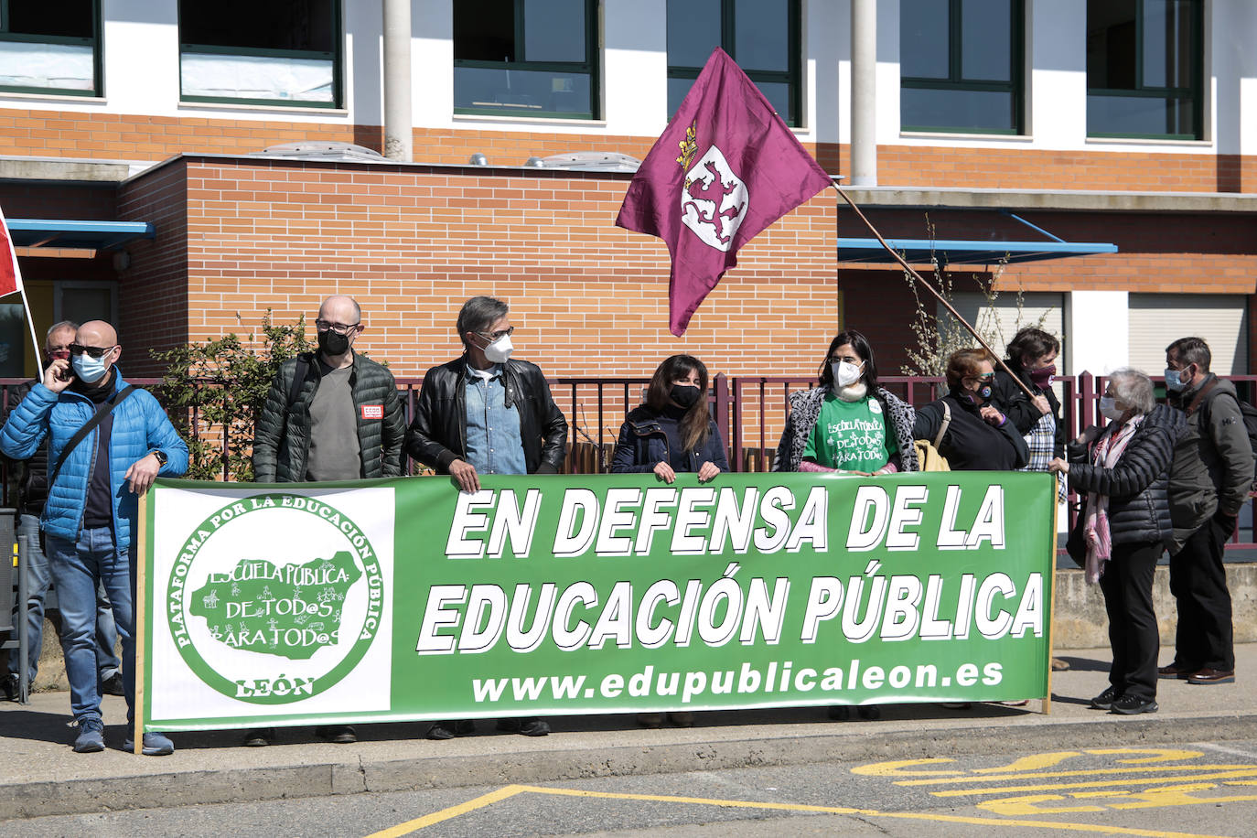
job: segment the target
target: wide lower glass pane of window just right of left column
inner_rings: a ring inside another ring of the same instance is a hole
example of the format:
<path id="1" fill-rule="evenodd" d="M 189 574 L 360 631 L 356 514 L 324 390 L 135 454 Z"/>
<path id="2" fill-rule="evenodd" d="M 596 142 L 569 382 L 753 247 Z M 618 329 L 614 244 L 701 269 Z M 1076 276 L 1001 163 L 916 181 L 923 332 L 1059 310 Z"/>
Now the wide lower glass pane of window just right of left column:
<path id="1" fill-rule="evenodd" d="M 587 73 L 454 68 L 455 108 L 590 116 L 590 103 Z"/>

